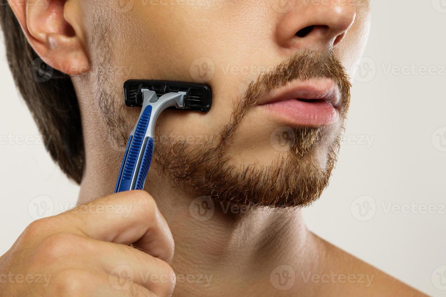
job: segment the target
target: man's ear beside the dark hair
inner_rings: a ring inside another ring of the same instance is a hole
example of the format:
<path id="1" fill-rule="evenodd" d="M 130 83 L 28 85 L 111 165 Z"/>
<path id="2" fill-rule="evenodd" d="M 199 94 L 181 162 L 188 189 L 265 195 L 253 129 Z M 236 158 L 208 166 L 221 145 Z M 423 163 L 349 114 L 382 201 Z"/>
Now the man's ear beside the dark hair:
<path id="1" fill-rule="evenodd" d="M 63 73 L 89 70 L 78 0 L 8 0 L 29 44 L 42 60 Z"/>

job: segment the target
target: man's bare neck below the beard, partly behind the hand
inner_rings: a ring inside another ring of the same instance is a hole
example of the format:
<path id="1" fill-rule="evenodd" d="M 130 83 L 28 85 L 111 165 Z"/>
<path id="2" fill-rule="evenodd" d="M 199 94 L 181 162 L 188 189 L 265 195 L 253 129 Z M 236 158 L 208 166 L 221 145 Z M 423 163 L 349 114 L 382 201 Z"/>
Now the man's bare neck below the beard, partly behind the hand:
<path id="1" fill-rule="evenodd" d="M 114 167 L 117 170 L 119 164 Z M 110 194 L 116 178 L 110 173 L 116 170 L 87 172 L 79 201 Z M 175 241 L 175 296 L 200 296 L 203 289 L 206 296 L 251 296 L 256 290 L 276 290 L 269 276 L 282 264 L 294 268 L 316 264 L 307 260 L 315 243 L 300 210 L 247 210 L 218 202 L 212 206 L 209 200 L 174 187 L 153 167 L 145 190 L 155 198 Z"/>

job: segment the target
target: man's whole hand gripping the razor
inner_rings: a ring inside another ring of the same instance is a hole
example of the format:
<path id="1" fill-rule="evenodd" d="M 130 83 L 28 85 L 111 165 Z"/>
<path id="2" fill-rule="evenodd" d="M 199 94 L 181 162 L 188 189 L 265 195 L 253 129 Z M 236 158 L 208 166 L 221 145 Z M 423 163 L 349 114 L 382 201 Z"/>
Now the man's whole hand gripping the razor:
<path id="1" fill-rule="evenodd" d="M 0 257 L 0 296 L 171 296 L 172 257 L 153 198 L 112 194 L 31 223 Z"/>

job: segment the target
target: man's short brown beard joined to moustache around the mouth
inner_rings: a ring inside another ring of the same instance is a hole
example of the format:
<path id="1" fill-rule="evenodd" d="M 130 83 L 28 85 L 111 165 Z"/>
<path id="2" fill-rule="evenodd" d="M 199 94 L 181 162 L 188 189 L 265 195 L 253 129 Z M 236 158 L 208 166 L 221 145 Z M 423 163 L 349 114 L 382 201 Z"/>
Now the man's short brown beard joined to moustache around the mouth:
<path id="1" fill-rule="evenodd" d="M 288 152 L 271 165 L 231 165 L 227 153 L 237 127 L 257 99 L 294 79 L 332 78 L 343 100 L 339 108 L 345 120 L 350 104 L 348 76 L 333 52 L 298 53 L 249 84 L 244 98 L 235 105 L 230 122 L 213 141 L 190 148 L 184 141 L 168 138 L 157 144 L 155 166 L 180 186 L 209 195 L 216 202 L 238 205 L 301 207 L 317 200 L 328 185 L 339 151 L 340 132 L 327 127 L 293 129 Z M 331 140 L 330 140 L 331 139 Z M 326 164 L 314 161 L 315 152 L 326 151 Z"/>

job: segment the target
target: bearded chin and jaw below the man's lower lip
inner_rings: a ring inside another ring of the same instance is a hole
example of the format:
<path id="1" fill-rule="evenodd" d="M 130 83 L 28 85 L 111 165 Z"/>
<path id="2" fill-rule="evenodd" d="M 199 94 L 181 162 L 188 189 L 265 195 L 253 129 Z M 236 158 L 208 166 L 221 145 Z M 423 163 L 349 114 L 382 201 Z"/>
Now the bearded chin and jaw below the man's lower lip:
<path id="1" fill-rule="evenodd" d="M 326 127 L 299 127 L 292 132 L 294 137 L 281 152 L 271 144 L 240 151 L 232 143 L 213 146 L 209 142 L 190 148 L 184 142 L 165 142 L 157 150 L 155 164 L 177 184 L 211 196 L 215 202 L 250 207 L 308 206 L 328 185 L 340 133 Z"/>

